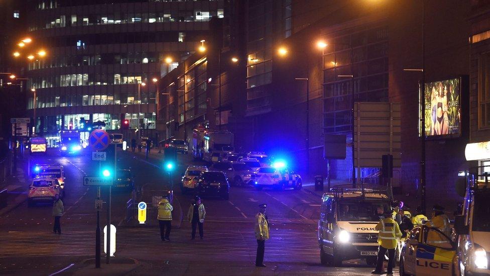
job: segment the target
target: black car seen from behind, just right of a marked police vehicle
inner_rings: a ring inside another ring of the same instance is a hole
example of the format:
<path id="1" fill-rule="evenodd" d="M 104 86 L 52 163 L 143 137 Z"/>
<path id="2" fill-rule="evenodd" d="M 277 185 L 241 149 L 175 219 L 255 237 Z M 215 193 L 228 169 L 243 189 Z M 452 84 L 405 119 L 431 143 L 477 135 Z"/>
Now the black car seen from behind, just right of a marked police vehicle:
<path id="1" fill-rule="evenodd" d="M 219 197 L 228 200 L 228 179 L 222 171 L 203 171 L 197 180 L 196 192 L 201 197 Z"/>

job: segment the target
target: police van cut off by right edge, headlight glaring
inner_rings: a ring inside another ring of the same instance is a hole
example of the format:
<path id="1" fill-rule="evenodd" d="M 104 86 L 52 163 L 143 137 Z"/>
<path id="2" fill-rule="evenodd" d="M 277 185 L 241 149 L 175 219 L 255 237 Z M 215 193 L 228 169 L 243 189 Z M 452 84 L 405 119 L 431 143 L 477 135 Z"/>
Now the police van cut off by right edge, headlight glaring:
<path id="1" fill-rule="evenodd" d="M 465 173 L 456 183 L 456 192 L 464 197 L 456 216 L 455 262 L 461 275 L 490 274 L 490 166 L 479 166 Z"/>

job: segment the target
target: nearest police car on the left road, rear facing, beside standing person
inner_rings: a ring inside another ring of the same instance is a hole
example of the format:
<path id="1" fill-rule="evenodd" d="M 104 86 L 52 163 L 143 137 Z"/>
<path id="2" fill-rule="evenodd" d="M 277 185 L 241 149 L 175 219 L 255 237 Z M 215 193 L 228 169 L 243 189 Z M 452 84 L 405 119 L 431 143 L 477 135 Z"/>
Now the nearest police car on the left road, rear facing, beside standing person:
<path id="1" fill-rule="evenodd" d="M 63 197 L 63 190 L 61 189 L 57 178 L 44 176 L 35 177 L 32 180 L 31 186 L 29 186 L 27 205 L 28 207 L 32 207 L 36 202 L 52 203 L 56 195 L 60 198 Z"/>

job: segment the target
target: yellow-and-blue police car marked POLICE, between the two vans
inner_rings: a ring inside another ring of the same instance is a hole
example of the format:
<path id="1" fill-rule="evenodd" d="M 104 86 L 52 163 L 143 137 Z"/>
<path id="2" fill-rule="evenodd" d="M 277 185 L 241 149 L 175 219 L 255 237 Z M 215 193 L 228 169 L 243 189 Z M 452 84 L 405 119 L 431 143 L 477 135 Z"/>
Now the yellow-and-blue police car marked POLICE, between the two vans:
<path id="1" fill-rule="evenodd" d="M 400 275 L 459 275 L 455 255 L 456 245 L 439 229 L 416 226 L 402 247 Z"/>

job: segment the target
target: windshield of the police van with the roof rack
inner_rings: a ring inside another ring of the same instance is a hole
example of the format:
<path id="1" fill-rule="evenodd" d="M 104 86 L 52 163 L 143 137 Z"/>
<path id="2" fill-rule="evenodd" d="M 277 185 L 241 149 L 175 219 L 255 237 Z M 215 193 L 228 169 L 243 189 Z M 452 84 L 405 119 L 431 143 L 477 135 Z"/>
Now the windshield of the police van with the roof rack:
<path id="1" fill-rule="evenodd" d="M 378 222 L 380 221 L 380 217 L 377 214 L 378 206 L 383 206 L 384 211 L 388 211 L 391 208 L 388 201 L 339 201 L 338 220 Z"/>

